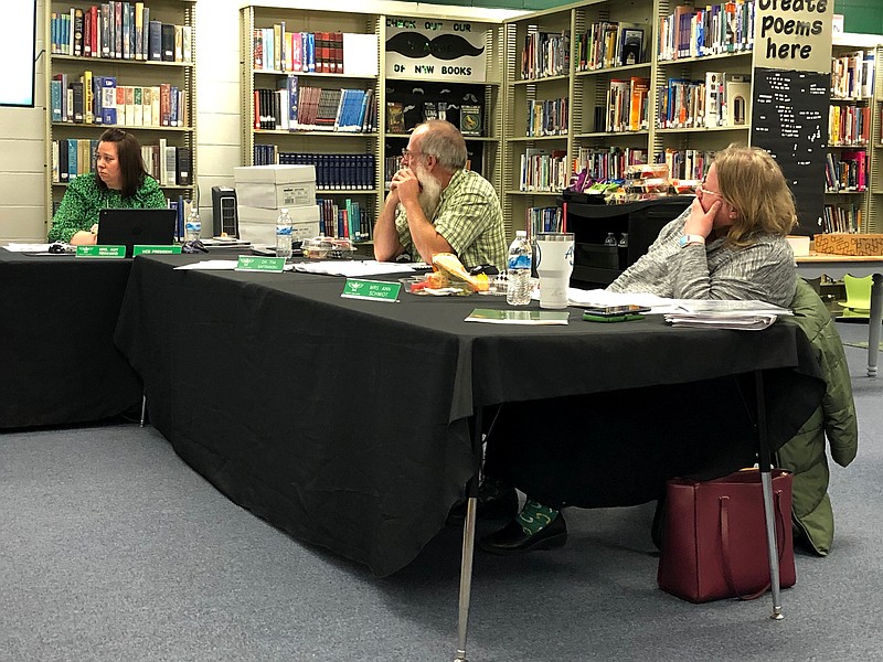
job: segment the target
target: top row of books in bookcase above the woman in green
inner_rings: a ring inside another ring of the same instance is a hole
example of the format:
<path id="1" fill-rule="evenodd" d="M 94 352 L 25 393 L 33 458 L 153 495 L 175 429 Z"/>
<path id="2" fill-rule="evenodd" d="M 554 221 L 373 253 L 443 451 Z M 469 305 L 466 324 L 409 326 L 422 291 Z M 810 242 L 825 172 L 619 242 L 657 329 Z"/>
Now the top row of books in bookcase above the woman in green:
<path id="1" fill-rule="evenodd" d="M 113 60 L 192 62 L 193 31 L 150 19 L 143 2 L 103 2 L 50 15 L 51 53 Z"/>

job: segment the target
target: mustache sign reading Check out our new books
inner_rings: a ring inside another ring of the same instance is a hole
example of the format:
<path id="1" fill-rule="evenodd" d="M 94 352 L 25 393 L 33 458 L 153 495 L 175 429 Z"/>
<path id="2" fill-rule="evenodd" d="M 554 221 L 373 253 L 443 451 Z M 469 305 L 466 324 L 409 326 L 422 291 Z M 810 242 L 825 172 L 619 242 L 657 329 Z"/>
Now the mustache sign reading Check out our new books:
<path id="1" fill-rule="evenodd" d="M 386 18 L 386 75 L 483 83 L 487 26 L 447 19 Z"/>

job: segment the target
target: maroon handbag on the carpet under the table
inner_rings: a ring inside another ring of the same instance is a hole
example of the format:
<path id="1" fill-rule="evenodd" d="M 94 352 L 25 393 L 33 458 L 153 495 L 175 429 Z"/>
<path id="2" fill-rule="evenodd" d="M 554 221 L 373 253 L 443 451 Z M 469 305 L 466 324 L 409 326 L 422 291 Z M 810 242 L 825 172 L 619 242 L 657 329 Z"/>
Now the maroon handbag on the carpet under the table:
<path id="1" fill-rule="evenodd" d="M 773 510 L 779 586 L 797 580 L 791 535 L 790 472 L 773 469 Z M 691 602 L 752 599 L 770 587 L 760 472 L 724 478 L 675 478 L 666 485 L 659 588 Z"/>

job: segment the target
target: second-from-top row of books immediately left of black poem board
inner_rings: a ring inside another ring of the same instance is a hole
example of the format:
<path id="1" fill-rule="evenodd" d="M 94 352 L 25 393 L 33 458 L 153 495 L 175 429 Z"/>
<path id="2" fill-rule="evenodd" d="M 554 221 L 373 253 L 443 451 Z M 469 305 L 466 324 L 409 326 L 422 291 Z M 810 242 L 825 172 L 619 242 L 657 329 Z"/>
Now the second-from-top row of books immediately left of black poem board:
<path id="1" fill-rule="evenodd" d="M 661 129 L 735 127 L 748 122 L 748 74 L 706 72 L 704 81 L 669 78 L 658 94 L 657 127 Z"/>

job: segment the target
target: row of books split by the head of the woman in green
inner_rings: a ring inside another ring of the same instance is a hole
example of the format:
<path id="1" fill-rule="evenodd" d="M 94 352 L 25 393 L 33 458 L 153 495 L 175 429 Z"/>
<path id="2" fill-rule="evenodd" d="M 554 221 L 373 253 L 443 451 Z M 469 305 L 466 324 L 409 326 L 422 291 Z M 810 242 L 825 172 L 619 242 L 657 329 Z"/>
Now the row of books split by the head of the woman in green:
<path id="1" fill-rule="evenodd" d="M 70 183 L 82 174 L 95 171 L 98 140 L 60 139 L 52 141 L 52 181 Z M 145 170 L 162 186 L 189 186 L 193 182 L 193 152 L 189 147 L 174 147 L 161 138 L 157 145 L 142 145 Z"/>

